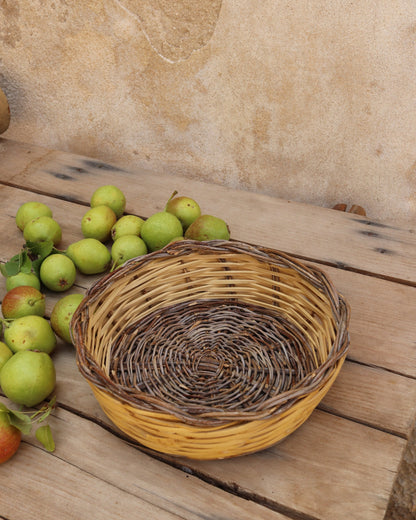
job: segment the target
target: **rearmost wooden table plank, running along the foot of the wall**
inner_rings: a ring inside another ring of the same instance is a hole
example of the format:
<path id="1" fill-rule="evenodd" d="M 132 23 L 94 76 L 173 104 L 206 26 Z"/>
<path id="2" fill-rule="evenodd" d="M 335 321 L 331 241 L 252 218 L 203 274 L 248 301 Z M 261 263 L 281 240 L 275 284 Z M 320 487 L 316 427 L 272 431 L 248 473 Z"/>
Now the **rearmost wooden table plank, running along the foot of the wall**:
<path id="1" fill-rule="evenodd" d="M 117 184 L 127 194 L 126 211 L 145 217 L 163 209 L 177 189 L 198 200 L 204 213 L 224 218 L 234 239 L 416 284 L 414 229 L 180 176 L 127 172 L 87 157 L 42 152 L 6 139 L 0 144 L 4 183 L 84 203 L 98 186 Z"/>

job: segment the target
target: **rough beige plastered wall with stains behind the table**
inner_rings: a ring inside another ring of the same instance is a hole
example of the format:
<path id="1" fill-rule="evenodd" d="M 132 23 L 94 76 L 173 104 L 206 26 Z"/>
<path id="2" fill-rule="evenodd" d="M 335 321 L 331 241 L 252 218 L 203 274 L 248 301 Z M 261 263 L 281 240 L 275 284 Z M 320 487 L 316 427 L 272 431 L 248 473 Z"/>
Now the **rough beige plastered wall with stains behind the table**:
<path id="1" fill-rule="evenodd" d="M 416 217 L 412 0 L 0 0 L 5 137 Z"/>

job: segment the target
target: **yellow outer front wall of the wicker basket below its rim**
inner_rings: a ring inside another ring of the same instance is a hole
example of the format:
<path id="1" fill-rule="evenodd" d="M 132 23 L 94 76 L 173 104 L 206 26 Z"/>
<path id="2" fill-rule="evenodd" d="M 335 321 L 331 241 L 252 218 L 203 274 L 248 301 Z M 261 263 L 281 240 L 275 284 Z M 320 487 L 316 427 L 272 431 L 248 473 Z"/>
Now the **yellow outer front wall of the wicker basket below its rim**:
<path id="1" fill-rule="evenodd" d="M 331 379 L 336 378 L 338 370 Z M 90 386 L 107 417 L 132 440 L 168 455 L 216 460 L 248 455 L 277 444 L 308 419 L 331 384 L 309 393 L 278 415 L 208 427 L 186 424 L 170 414 L 138 410 Z"/>

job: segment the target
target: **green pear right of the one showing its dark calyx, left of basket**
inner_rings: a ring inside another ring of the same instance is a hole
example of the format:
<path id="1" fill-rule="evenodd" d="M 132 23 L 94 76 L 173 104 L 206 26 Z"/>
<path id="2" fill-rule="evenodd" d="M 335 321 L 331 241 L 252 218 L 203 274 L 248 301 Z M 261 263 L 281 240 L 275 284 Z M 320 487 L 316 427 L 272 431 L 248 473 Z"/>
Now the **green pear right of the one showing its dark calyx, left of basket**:
<path id="1" fill-rule="evenodd" d="M 110 251 L 95 238 L 83 238 L 73 242 L 66 254 L 83 274 L 103 273 L 111 261 Z"/>

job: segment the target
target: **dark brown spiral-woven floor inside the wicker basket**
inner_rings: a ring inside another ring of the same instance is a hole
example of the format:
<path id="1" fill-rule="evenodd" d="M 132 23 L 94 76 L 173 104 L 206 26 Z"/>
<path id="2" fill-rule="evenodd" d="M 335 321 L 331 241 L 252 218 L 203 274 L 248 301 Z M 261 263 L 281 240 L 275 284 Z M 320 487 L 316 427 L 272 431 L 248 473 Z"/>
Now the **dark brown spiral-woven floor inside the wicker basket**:
<path id="1" fill-rule="evenodd" d="M 115 384 L 189 414 L 255 411 L 318 368 L 301 334 L 276 313 L 224 300 L 146 316 L 114 343 Z"/>

